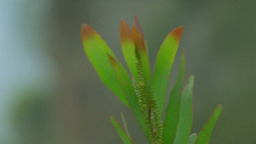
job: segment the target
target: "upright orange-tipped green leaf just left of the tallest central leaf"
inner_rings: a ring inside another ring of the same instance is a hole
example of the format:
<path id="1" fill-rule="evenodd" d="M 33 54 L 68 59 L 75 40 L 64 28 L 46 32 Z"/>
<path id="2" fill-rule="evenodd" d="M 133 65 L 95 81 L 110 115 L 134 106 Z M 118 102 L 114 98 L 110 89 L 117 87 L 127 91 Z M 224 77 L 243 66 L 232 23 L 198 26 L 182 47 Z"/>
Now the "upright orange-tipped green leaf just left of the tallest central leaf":
<path id="1" fill-rule="evenodd" d="M 136 66 L 136 63 L 138 63 L 138 59 L 135 54 L 135 46 L 132 39 L 132 33 L 125 20 L 121 20 L 120 37 L 122 51 L 124 58 L 126 59 L 127 66 L 130 69 L 132 76 L 134 76 L 134 78 L 138 80 L 138 72 Z"/>

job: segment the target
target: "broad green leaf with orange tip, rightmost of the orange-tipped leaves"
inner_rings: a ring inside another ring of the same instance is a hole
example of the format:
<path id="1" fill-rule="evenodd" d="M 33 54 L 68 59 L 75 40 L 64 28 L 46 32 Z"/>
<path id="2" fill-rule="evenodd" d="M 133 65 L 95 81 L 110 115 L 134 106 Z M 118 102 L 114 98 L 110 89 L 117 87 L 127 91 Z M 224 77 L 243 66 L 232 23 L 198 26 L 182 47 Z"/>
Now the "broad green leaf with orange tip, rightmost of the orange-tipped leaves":
<path id="1" fill-rule="evenodd" d="M 153 95 L 156 100 L 160 115 L 163 115 L 165 108 L 165 99 L 167 96 L 167 88 L 171 75 L 171 68 L 180 43 L 183 27 L 174 29 L 167 35 L 164 42 L 160 46 L 160 50 L 156 57 L 154 74 L 152 78 Z"/>

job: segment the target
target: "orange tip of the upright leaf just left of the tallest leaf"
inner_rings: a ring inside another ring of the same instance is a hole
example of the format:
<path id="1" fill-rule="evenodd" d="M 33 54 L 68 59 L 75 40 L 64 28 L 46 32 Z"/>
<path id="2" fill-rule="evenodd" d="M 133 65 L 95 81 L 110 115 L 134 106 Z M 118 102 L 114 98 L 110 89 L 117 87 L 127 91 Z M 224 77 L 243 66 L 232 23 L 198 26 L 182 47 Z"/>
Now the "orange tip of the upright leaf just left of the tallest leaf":
<path id="1" fill-rule="evenodd" d="M 121 42 L 124 42 L 126 40 L 132 41 L 132 33 L 125 20 L 121 20 L 121 23 L 120 23 L 120 37 L 121 37 Z"/>

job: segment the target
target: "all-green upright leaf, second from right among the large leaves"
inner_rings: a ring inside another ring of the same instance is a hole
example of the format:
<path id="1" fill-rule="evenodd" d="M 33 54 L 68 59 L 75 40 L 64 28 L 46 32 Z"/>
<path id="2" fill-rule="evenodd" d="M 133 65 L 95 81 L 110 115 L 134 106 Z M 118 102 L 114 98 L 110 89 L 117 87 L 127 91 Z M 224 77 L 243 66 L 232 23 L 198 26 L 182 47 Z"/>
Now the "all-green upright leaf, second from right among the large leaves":
<path id="1" fill-rule="evenodd" d="M 192 128 L 192 93 L 194 85 L 194 76 L 190 76 L 186 87 L 182 93 L 180 102 L 180 119 L 177 124 L 177 132 L 174 144 L 188 143 L 190 130 Z"/>

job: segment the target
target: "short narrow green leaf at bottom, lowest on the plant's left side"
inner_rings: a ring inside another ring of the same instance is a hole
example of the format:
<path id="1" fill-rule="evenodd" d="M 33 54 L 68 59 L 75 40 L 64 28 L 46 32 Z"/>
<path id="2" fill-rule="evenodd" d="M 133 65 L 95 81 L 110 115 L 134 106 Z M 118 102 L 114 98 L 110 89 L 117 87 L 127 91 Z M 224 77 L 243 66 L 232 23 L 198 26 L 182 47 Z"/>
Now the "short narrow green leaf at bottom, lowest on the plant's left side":
<path id="1" fill-rule="evenodd" d="M 132 140 L 126 135 L 126 132 L 124 132 L 124 130 L 122 130 L 122 128 L 119 126 L 117 120 L 115 120 L 115 118 L 112 116 L 110 117 L 110 119 L 113 126 L 115 126 L 115 130 L 117 130 L 117 134 L 122 139 L 123 143 L 132 144 Z"/>

